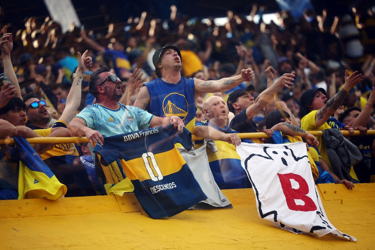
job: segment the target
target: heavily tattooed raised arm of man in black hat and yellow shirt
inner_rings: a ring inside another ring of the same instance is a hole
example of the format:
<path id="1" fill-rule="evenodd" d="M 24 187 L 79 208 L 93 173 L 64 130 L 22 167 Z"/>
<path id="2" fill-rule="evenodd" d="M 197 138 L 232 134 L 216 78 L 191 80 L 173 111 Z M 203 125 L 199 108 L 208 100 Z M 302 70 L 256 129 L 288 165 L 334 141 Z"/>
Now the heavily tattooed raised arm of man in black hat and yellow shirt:
<path id="1" fill-rule="evenodd" d="M 329 119 L 329 117 L 335 113 L 336 109 L 341 105 L 342 101 L 344 101 L 345 97 L 348 95 L 349 90 L 362 81 L 362 74 L 357 75 L 357 73 L 358 71 L 354 71 L 353 74 L 348 75 L 348 71 L 345 71 L 344 86 L 342 86 L 339 92 L 329 99 L 324 107 L 318 110 L 315 114 L 315 124 L 317 127 L 323 125 Z"/>

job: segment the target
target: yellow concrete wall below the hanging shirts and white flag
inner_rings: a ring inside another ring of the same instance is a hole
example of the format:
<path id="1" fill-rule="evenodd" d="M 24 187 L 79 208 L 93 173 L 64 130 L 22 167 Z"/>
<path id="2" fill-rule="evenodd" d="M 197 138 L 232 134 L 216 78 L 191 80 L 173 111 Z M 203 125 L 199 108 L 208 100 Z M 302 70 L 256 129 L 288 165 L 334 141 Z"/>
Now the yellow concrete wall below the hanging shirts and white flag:
<path id="1" fill-rule="evenodd" d="M 233 209 L 188 210 L 153 220 L 133 196 L 0 201 L 0 249 L 375 249 L 375 184 L 320 184 L 341 232 L 297 235 L 258 217 L 252 189 L 223 190 Z"/>

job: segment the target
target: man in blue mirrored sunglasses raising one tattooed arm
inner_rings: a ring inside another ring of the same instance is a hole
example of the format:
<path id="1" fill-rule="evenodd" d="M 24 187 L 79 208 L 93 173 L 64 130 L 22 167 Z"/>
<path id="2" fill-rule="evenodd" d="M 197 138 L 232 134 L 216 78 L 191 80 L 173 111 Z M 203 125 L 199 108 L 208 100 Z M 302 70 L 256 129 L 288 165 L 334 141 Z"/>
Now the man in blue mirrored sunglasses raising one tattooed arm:
<path id="1" fill-rule="evenodd" d="M 71 91 L 66 98 L 66 107 L 60 119 L 51 128 L 48 126 L 50 117 L 46 102 L 38 99 L 38 96 L 34 93 L 24 96 L 28 118 L 26 125 L 40 136 L 48 136 L 57 127 L 67 128 L 67 124 L 77 114 L 77 109 L 81 102 L 83 72 L 86 71 L 87 66 L 92 64 L 92 58 L 86 56 L 87 53 L 88 51 L 86 50 L 81 56 L 78 52 L 78 67 L 73 75 Z M 95 195 L 95 190 L 89 181 L 89 176 L 84 166 L 74 166 L 73 164 L 78 155 L 74 143 L 57 143 L 51 150 L 40 154 L 40 157 L 56 175 L 57 179 L 67 186 L 68 192 L 65 196 Z"/>

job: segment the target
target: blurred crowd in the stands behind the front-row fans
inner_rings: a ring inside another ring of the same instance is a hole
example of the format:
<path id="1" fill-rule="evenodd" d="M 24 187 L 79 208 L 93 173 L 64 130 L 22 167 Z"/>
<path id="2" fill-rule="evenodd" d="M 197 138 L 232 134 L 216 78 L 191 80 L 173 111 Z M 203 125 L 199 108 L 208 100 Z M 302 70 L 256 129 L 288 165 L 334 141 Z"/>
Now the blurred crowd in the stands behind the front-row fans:
<path id="1" fill-rule="evenodd" d="M 361 111 L 375 86 L 375 7 L 356 7 L 340 17 L 307 9 L 298 21 L 290 12 L 282 11 L 276 13 L 279 25 L 273 21 L 265 24 L 262 20 L 255 23 L 255 15 L 263 9 L 264 6 L 254 5 L 248 18 L 228 11 L 224 26 L 217 26 L 213 18 L 202 22 L 180 17 L 172 6 L 169 20 L 150 18 L 145 13 L 139 18 L 129 18 L 126 24 L 111 23 L 105 32 L 72 25 L 71 31 L 63 34 L 60 25 L 49 17 L 45 20 L 30 17 L 24 29 L 7 23 L 1 27 L 7 25 L 7 31 L 13 34 L 11 60 L 22 96 L 34 93 L 37 99 L 45 100 L 54 109 L 49 111 L 50 124 L 60 119 L 67 105 L 72 74 L 79 65 L 77 51 L 88 49 L 86 56 L 92 58 L 92 64 L 83 74 L 78 113 L 95 103 L 88 82 L 90 75 L 103 65 L 109 66 L 123 83 L 121 88 L 126 98 L 120 102 L 132 105 L 141 84 L 157 78 L 152 56 L 166 45 L 180 49 L 181 75 L 186 78 L 218 80 L 252 68 L 255 98 L 267 88 L 269 77 L 265 70 L 269 66 L 274 69 L 274 81 L 285 73 L 295 72 L 294 85 L 278 92 L 276 105 L 290 111 L 299 123 L 307 114 L 301 106 L 301 96 L 306 90 L 323 88 L 330 99 L 343 86 L 345 70 L 349 74 L 359 71 L 363 80 L 349 92 L 335 118 L 339 119 L 350 107 Z M 241 60 L 245 61 L 245 67 L 238 68 Z M 2 65 L 0 71 L 3 72 Z M 128 86 L 134 84 L 137 87 L 130 88 L 135 90 L 128 93 Z M 246 87 L 246 83 L 241 87 Z M 226 101 L 231 91 L 200 96 L 196 120 L 204 120 L 205 99 L 218 95 Z M 264 110 L 254 117 L 260 130 L 266 127 L 265 118 Z M 375 121 L 371 119 L 368 129 L 374 128 Z"/>

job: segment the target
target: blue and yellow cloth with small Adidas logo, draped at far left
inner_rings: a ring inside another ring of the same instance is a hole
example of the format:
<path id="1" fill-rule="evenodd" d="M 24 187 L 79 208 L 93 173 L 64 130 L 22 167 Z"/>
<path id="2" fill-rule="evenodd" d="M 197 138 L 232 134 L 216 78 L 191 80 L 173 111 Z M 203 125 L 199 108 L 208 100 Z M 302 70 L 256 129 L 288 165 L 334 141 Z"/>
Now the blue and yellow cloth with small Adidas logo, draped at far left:
<path id="1" fill-rule="evenodd" d="M 42 161 L 25 138 L 13 137 L 19 154 L 18 199 L 56 200 L 67 188 Z"/>

